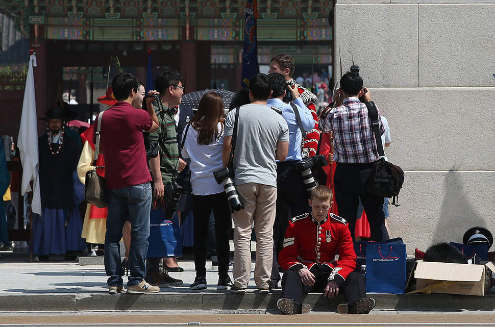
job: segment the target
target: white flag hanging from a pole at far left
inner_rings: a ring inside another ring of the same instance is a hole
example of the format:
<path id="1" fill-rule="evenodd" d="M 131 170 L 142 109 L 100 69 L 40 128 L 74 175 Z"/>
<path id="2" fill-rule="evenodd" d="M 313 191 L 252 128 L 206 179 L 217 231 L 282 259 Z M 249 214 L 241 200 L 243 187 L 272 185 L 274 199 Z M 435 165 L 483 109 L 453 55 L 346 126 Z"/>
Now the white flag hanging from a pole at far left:
<path id="1" fill-rule="evenodd" d="M 41 196 L 38 179 L 38 123 L 36 120 L 33 66 L 36 66 L 36 56 L 34 54 L 29 59 L 17 146 L 20 150 L 20 161 L 23 170 L 20 193 L 24 195 L 30 192 L 30 182 L 33 181 L 34 190 L 31 210 L 33 213 L 41 215 Z"/>

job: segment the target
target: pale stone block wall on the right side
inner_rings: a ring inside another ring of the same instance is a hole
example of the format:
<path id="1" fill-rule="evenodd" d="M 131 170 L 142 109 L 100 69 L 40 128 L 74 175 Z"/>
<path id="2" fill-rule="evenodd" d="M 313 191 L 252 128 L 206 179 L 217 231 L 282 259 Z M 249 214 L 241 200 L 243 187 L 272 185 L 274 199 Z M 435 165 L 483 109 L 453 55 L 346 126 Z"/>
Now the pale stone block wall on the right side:
<path id="1" fill-rule="evenodd" d="M 391 237 L 408 254 L 495 234 L 495 1 L 337 0 L 335 76 L 354 63 L 405 171 Z M 339 56 L 340 52 L 340 56 Z"/>

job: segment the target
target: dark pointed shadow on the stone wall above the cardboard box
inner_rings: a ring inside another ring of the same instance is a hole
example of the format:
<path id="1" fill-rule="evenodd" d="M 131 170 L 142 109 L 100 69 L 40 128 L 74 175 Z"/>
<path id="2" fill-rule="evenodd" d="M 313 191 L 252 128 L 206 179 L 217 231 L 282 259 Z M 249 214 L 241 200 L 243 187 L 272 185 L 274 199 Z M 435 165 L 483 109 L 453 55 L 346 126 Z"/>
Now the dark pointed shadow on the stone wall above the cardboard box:
<path id="1" fill-rule="evenodd" d="M 432 242 L 462 243 L 465 231 L 473 226 L 485 226 L 486 222 L 475 209 L 477 203 L 473 202 L 473 196 L 468 196 L 465 192 L 458 172 L 450 170 L 443 187 L 446 192 Z"/>

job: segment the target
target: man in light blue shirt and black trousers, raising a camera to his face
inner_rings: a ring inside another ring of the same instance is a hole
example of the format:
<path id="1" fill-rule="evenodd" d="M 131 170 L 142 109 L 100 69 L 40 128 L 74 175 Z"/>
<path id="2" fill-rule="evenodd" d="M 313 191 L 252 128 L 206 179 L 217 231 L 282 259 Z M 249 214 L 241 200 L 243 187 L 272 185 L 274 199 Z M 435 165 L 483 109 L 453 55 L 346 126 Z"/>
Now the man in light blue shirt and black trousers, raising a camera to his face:
<path id="1" fill-rule="evenodd" d="M 291 104 L 282 101 L 285 92 L 291 92 L 295 110 L 298 110 L 301 117 L 301 124 L 305 131 L 314 128 L 314 119 L 311 111 L 304 105 L 299 97 L 298 88 L 288 86 L 285 78 L 280 73 L 268 74 L 268 81 L 271 84 L 271 96 L 266 105 L 274 106 L 282 110 L 289 127 L 289 152 L 285 161 L 277 160 L 277 203 L 274 223 L 274 264 L 271 270 L 271 289 L 275 289 L 280 281 L 280 272 L 278 265 L 278 254 L 282 248 L 285 231 L 287 230 L 290 216 L 295 217 L 311 212 L 308 203 L 306 187 L 301 177 L 301 172 L 296 171 L 292 166 L 301 161 L 301 142 L 302 133 L 299 127 L 298 119 Z"/>

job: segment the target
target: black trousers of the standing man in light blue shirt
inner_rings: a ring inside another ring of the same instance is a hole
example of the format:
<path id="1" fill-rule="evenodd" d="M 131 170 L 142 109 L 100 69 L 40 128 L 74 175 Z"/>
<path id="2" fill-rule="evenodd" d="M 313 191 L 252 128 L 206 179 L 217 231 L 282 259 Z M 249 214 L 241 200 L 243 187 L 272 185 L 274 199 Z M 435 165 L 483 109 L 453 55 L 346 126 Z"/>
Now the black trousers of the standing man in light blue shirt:
<path id="1" fill-rule="evenodd" d="M 292 166 L 298 161 L 277 162 L 277 202 L 274 222 L 274 257 L 271 283 L 280 281 L 278 256 L 284 244 L 285 232 L 291 217 L 311 212 L 308 193 L 301 172 Z M 290 210 L 290 212 L 289 212 Z M 289 215 L 290 214 L 290 215 Z"/>

